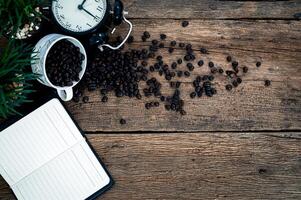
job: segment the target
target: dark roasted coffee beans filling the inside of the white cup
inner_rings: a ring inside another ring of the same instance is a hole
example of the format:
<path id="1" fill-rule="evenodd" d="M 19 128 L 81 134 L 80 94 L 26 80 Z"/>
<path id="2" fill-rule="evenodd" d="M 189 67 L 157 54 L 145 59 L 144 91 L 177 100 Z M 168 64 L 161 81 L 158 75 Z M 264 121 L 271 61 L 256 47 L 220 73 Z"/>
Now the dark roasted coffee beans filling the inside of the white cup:
<path id="1" fill-rule="evenodd" d="M 46 58 L 46 74 L 55 86 L 72 86 L 79 81 L 85 56 L 68 40 L 53 45 Z"/>

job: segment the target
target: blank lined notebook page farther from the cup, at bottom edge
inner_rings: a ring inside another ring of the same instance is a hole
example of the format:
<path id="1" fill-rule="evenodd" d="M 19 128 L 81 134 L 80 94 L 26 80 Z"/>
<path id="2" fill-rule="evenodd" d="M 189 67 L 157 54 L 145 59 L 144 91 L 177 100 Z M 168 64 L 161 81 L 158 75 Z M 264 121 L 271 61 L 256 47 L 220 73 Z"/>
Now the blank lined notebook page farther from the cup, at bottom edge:
<path id="1" fill-rule="evenodd" d="M 97 166 L 94 166 L 94 162 L 98 163 Z M 82 200 L 109 182 L 109 176 L 87 143 L 82 141 L 21 180 L 12 189 L 18 190 L 18 195 L 28 200 Z"/>

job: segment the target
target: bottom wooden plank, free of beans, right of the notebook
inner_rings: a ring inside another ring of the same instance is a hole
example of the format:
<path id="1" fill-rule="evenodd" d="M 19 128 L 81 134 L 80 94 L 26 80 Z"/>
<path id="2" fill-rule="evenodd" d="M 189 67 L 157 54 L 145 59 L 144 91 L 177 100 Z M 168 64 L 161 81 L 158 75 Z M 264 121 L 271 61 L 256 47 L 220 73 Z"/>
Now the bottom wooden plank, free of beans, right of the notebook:
<path id="1" fill-rule="evenodd" d="M 300 199 L 301 134 L 88 135 L 116 180 L 100 199 Z M 0 199 L 13 199 L 3 181 Z"/>

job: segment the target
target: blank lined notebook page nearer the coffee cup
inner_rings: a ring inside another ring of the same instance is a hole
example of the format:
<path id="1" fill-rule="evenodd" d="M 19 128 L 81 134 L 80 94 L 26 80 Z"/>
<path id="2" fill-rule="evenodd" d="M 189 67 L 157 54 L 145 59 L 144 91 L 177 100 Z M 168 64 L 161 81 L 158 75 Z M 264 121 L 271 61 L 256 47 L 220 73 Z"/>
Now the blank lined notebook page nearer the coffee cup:
<path id="1" fill-rule="evenodd" d="M 0 133 L 0 163 L 10 185 L 82 139 L 70 117 L 63 122 L 56 110 L 66 113 L 53 99 Z"/>

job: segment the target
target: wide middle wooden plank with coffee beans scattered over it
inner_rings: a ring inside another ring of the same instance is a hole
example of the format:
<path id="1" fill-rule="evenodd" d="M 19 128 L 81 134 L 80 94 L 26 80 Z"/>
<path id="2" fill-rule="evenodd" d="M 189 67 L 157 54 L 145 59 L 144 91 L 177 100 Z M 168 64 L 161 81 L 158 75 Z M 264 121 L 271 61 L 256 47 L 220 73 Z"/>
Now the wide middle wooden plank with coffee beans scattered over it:
<path id="1" fill-rule="evenodd" d="M 206 61 L 229 68 L 225 57 L 233 55 L 250 72 L 243 77 L 243 84 L 232 92 L 225 90 L 227 79 L 216 77 L 218 95 L 208 99 L 191 100 L 192 78 L 181 79 L 182 97 L 186 101 L 187 116 L 167 112 L 163 105 L 145 110 L 146 101 L 115 97 L 101 103 L 99 91 L 87 93 L 90 103 L 68 103 L 67 106 L 84 131 L 245 131 L 245 130 L 300 130 L 301 129 L 301 22 L 297 21 L 206 21 L 192 20 L 189 28 L 181 28 L 177 20 L 134 20 L 135 38 L 144 30 L 158 37 L 166 33 L 170 40 L 190 42 L 195 48 L 204 46 L 209 55 L 197 54 Z M 135 42 L 133 48 L 149 43 Z M 183 56 L 176 50 L 172 56 L 166 49 L 164 61 L 171 63 Z M 256 68 L 255 62 L 262 61 Z M 196 66 L 196 64 L 195 64 Z M 183 64 L 181 69 L 186 69 Z M 193 72 L 204 75 L 208 67 Z M 154 76 L 158 77 L 155 73 Z M 272 85 L 264 87 L 265 79 Z M 163 94 L 172 90 L 168 82 L 159 79 Z M 143 86 L 141 85 L 141 88 Z M 121 126 L 123 117 L 128 123 Z"/>

